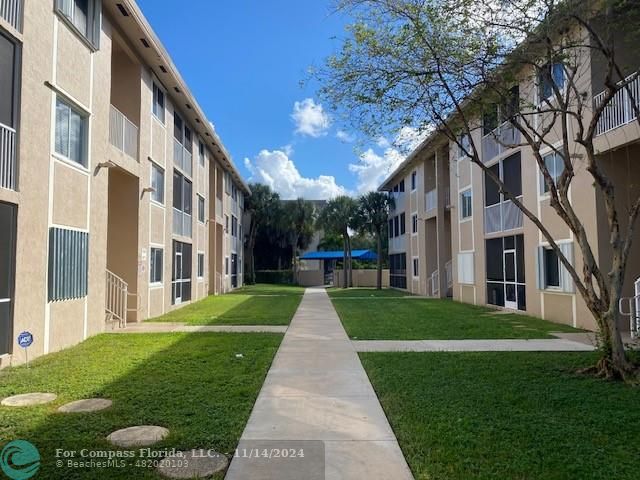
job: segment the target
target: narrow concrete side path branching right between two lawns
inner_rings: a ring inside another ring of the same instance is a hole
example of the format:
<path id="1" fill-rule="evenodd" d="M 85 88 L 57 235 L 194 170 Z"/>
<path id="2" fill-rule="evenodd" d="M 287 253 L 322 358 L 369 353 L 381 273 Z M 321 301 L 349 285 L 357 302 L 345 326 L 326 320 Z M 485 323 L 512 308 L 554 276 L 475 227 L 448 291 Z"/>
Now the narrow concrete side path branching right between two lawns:
<path id="1" fill-rule="evenodd" d="M 503 340 L 354 340 L 358 352 L 590 352 L 593 345 L 560 338 Z"/>

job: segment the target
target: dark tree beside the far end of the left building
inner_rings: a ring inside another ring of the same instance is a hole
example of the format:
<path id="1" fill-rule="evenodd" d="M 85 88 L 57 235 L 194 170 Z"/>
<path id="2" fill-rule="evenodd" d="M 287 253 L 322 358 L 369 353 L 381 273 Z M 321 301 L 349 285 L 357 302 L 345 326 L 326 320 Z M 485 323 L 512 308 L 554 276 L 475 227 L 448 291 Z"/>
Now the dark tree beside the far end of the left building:
<path id="1" fill-rule="evenodd" d="M 250 218 L 249 234 L 247 238 L 247 266 L 248 283 L 256 283 L 255 246 L 258 231 L 266 228 L 273 220 L 275 205 L 280 201 L 280 196 L 271 190 L 268 185 L 252 183 L 251 195 L 245 201 L 245 212 Z"/>

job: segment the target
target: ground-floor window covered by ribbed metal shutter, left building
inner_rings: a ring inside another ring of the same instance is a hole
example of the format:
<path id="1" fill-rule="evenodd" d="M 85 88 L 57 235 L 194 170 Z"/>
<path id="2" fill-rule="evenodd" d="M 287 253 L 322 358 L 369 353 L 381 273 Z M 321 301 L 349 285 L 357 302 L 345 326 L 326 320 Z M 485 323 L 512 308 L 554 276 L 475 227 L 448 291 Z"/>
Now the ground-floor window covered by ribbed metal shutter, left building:
<path id="1" fill-rule="evenodd" d="M 49 229 L 49 301 L 87 295 L 89 234 L 66 228 Z"/>

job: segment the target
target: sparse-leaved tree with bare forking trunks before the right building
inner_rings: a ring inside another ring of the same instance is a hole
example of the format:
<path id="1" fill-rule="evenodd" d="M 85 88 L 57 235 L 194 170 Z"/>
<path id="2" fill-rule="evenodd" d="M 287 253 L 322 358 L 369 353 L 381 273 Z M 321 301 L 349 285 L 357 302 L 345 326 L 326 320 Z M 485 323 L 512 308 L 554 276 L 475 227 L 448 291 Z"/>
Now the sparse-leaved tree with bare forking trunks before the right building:
<path id="1" fill-rule="evenodd" d="M 621 103 L 640 125 L 640 63 L 631 55 L 640 2 L 340 0 L 338 8 L 353 22 L 340 50 L 316 72 L 324 98 L 372 136 L 405 126 L 446 136 L 537 227 L 566 269 L 598 325 L 601 357 L 592 371 L 638 382 L 618 302 L 638 236 L 640 195 L 614 182 L 597 137 Z M 532 154 L 579 262 L 565 255 L 548 218 L 483 162 L 488 141 Z M 580 213 L 571 201 L 574 178 L 585 175 L 605 212 L 604 246 L 588 233 L 594 212 Z"/>

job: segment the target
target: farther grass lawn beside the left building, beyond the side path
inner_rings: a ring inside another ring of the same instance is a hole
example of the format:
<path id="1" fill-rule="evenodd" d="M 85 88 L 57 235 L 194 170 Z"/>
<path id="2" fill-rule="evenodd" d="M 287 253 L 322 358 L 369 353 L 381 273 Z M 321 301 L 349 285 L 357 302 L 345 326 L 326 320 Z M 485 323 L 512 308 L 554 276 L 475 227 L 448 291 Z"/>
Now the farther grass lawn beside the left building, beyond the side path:
<path id="1" fill-rule="evenodd" d="M 251 285 L 225 295 L 210 295 L 150 322 L 192 325 L 288 325 L 304 288 L 290 285 Z"/>

